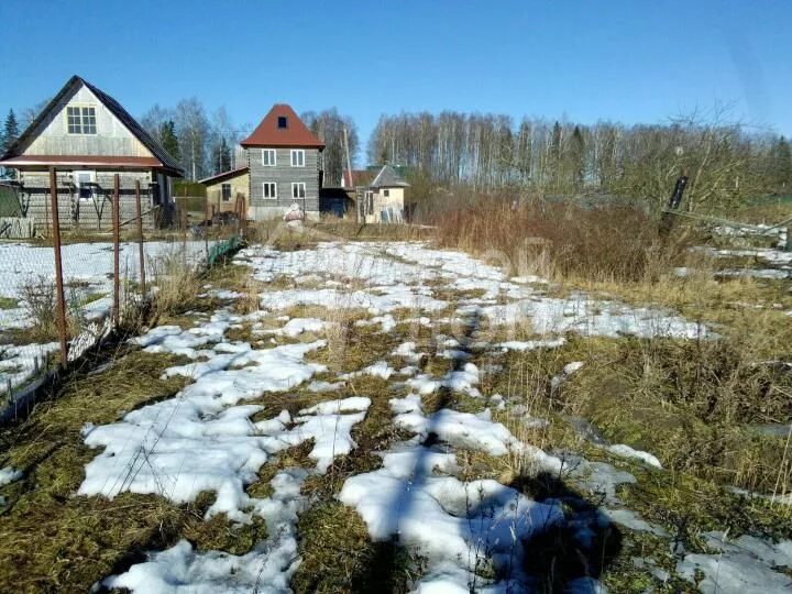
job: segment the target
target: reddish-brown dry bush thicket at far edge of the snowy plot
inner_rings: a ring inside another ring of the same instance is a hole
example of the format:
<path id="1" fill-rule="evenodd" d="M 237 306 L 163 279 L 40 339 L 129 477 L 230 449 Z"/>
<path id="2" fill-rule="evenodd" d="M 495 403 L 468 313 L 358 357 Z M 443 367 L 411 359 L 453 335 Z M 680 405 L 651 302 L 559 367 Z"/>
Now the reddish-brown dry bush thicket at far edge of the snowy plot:
<path id="1" fill-rule="evenodd" d="M 479 201 L 437 222 L 443 245 L 495 251 L 513 273 L 556 278 L 654 282 L 686 248 L 680 237 L 663 241 L 658 222 L 629 206 Z"/>

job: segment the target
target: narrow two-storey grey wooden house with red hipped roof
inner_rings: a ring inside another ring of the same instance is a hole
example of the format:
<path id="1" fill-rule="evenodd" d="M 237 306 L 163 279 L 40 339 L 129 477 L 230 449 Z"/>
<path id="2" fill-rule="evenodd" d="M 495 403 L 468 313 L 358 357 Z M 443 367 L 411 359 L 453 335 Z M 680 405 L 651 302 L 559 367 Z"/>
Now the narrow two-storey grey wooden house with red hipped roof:
<path id="1" fill-rule="evenodd" d="M 275 105 L 241 145 L 248 155 L 250 218 L 280 218 L 292 205 L 308 219 L 319 218 L 324 143 L 289 106 Z"/>

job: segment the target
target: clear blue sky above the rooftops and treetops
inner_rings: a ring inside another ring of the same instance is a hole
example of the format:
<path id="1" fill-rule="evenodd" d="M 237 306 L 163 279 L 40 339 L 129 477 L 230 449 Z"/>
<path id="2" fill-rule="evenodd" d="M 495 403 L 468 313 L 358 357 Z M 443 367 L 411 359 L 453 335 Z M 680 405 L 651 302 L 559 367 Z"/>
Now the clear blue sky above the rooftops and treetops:
<path id="1" fill-rule="evenodd" d="M 792 1 L 0 1 L 0 116 L 79 74 L 135 116 L 196 96 L 381 113 L 660 122 L 732 102 L 792 135 Z"/>

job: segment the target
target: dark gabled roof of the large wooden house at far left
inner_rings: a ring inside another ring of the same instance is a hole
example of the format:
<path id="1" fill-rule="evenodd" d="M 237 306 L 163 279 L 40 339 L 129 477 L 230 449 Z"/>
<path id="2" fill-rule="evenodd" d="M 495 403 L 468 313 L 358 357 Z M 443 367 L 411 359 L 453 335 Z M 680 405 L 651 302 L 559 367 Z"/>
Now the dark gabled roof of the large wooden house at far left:
<path id="1" fill-rule="evenodd" d="M 24 145 L 24 143 L 33 135 L 35 130 L 38 128 L 38 124 L 42 123 L 44 118 L 50 113 L 57 103 L 68 94 L 72 89 L 74 89 L 77 85 L 84 85 L 86 86 L 95 96 L 96 98 L 102 102 L 102 105 L 110 110 L 110 112 L 118 118 L 118 120 L 130 131 L 130 133 L 135 136 L 142 144 L 145 146 L 152 155 L 154 155 L 154 160 L 148 162 L 151 163 L 151 166 L 154 167 L 163 167 L 165 169 L 168 169 L 169 173 L 176 174 L 178 176 L 184 175 L 184 169 L 182 169 L 182 165 L 178 161 L 176 161 L 174 157 L 172 157 L 165 148 L 163 148 L 158 142 L 156 142 L 148 132 L 145 131 L 145 129 L 138 123 L 138 121 L 130 116 L 130 113 L 119 103 L 116 99 L 107 95 L 105 91 L 99 89 L 98 87 L 95 87 L 84 78 L 80 78 L 79 76 L 75 75 L 72 78 L 68 79 L 66 85 L 58 91 L 58 94 L 52 98 L 52 100 L 46 105 L 46 107 L 38 113 L 35 120 L 25 129 L 24 132 L 20 135 L 20 138 L 14 142 L 9 150 L 6 152 L 6 154 L 0 160 L 0 163 L 3 163 L 6 161 L 9 161 L 10 165 L 13 165 L 13 162 L 10 160 L 13 160 L 14 157 L 19 157 L 19 148 L 20 146 Z M 31 160 L 42 162 L 45 158 L 51 158 L 53 163 L 63 163 L 63 161 L 58 161 L 61 157 L 47 157 L 45 155 L 31 155 Z M 69 161 L 75 161 L 81 158 L 79 155 L 70 156 L 68 157 Z M 88 161 L 97 161 L 102 158 L 111 158 L 111 157 L 102 157 L 102 156 L 86 156 Z M 114 157 L 112 157 L 114 158 Z M 123 158 L 130 163 L 134 162 L 135 157 L 118 157 Z M 143 158 L 143 157 L 141 157 Z M 146 157 L 147 158 L 147 157 Z M 15 162 L 18 165 L 21 164 L 21 161 Z M 77 162 L 81 163 L 81 162 Z M 147 164 L 148 164 L 147 163 Z M 147 165 L 146 164 L 146 165 Z"/>

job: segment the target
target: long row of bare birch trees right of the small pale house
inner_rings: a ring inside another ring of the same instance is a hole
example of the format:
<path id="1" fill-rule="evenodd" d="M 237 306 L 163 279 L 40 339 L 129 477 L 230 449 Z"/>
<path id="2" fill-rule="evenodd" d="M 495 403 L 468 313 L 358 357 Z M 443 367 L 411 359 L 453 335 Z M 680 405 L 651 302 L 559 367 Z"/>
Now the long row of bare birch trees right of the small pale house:
<path id="1" fill-rule="evenodd" d="M 608 193 L 662 206 L 681 172 L 691 210 L 792 188 L 787 139 L 714 109 L 666 124 L 592 125 L 490 113 L 383 116 L 369 143 L 389 162 L 442 185 L 542 194 Z"/>

